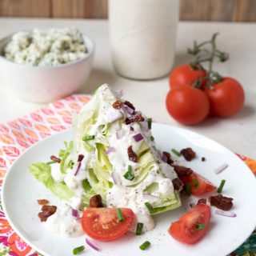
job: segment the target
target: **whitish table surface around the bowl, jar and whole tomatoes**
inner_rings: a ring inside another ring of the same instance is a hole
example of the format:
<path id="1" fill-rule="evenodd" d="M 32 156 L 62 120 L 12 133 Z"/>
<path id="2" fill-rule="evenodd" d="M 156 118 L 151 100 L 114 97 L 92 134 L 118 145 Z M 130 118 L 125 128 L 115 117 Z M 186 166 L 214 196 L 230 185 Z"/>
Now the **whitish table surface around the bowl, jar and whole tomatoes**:
<path id="1" fill-rule="evenodd" d="M 0 18 L 0 38 L 18 30 L 52 26 L 77 26 L 96 43 L 90 79 L 78 93 L 90 94 L 95 87 L 107 82 L 115 89 L 125 90 L 125 97 L 155 121 L 182 126 L 166 111 L 165 98 L 169 90 L 167 77 L 140 82 L 121 78 L 114 73 L 106 20 Z M 230 150 L 256 158 L 256 23 L 180 22 L 174 65 L 188 62 L 186 49 L 194 39 L 204 41 L 214 32 L 220 32 L 219 49 L 230 54 L 230 61 L 218 64 L 217 70 L 220 74 L 237 78 L 242 83 L 246 91 L 246 105 L 232 118 L 208 118 L 197 126 L 186 128 L 213 138 Z M 14 98 L 8 86 L 2 84 L 1 80 L 0 103 L 0 123 L 18 118 L 42 106 Z"/>

